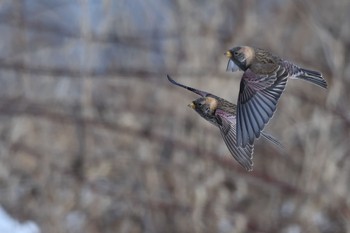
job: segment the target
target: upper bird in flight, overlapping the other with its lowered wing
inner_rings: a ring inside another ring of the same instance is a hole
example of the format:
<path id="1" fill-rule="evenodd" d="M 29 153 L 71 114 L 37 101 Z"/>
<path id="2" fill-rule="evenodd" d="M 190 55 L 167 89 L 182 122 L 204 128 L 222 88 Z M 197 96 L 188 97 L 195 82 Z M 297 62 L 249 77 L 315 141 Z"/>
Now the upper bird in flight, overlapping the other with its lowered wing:
<path id="1" fill-rule="evenodd" d="M 302 79 L 327 88 L 322 74 L 301 68 L 259 48 L 234 47 L 225 55 L 227 71 L 244 71 L 237 101 L 237 144 L 253 144 L 273 116 L 287 79 Z"/>

